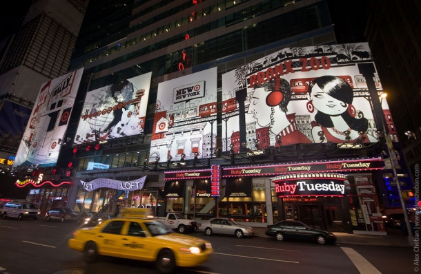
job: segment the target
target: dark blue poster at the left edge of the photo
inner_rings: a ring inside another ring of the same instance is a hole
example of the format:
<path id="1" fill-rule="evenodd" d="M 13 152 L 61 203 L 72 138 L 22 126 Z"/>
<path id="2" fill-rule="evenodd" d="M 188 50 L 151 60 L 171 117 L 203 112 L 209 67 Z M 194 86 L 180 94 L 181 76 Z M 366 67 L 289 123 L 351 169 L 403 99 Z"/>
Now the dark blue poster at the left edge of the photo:
<path id="1" fill-rule="evenodd" d="M 0 142 L 1 148 L 17 150 L 28 124 L 32 109 L 11 101 L 0 103 Z"/>

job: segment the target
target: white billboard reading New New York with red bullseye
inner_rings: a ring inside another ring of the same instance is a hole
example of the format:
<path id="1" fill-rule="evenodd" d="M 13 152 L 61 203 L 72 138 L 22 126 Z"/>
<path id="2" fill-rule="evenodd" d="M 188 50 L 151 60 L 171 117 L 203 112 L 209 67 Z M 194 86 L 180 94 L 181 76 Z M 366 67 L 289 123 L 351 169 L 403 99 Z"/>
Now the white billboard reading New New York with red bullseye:
<path id="1" fill-rule="evenodd" d="M 216 114 L 216 67 L 159 83 L 149 162 L 210 157 Z"/>

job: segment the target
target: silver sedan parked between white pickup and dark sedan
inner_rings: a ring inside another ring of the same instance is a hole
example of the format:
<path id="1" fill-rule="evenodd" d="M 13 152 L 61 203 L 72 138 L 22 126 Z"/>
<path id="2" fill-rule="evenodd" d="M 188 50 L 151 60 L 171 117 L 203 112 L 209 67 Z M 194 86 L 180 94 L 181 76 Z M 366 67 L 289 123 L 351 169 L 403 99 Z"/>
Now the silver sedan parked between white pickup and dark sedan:
<path id="1" fill-rule="evenodd" d="M 197 222 L 199 231 L 204 231 L 206 235 L 227 234 L 235 235 L 237 238 L 244 236 L 253 236 L 255 230 L 251 226 L 244 226 L 229 218 L 212 218 L 210 220 L 202 220 Z"/>

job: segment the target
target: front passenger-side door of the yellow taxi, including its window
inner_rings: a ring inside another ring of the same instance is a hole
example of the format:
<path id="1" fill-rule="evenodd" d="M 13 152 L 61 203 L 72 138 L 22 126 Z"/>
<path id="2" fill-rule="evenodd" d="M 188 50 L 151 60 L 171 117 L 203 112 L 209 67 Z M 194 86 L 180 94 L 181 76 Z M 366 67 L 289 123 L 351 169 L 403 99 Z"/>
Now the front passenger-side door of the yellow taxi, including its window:
<path id="1" fill-rule="evenodd" d="M 124 228 L 121 244 L 125 257 L 145 260 L 150 252 L 150 239 L 145 232 L 145 227 L 135 220 L 130 220 Z"/>

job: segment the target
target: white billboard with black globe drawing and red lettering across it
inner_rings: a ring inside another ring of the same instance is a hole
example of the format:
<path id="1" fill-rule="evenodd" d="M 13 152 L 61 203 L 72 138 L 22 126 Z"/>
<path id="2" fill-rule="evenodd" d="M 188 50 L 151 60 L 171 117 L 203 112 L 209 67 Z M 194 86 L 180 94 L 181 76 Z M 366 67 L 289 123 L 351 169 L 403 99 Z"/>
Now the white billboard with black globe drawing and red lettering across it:
<path id="1" fill-rule="evenodd" d="M 88 92 L 74 142 L 143 134 L 151 76 L 148 72 Z"/>

